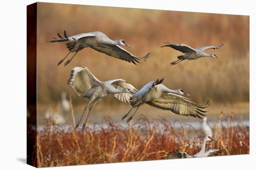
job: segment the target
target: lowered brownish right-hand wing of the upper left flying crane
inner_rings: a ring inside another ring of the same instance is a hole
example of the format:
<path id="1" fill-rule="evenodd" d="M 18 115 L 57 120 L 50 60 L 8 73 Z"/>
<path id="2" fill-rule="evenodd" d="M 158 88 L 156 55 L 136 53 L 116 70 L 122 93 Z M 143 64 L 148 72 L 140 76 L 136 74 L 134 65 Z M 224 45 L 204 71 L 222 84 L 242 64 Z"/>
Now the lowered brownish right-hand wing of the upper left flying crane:
<path id="1" fill-rule="evenodd" d="M 97 50 L 99 52 L 105 53 L 108 56 L 119 58 L 121 60 L 125 60 L 129 63 L 140 63 L 140 61 L 146 61 L 149 57 L 149 53 L 144 57 L 136 57 L 132 53 L 127 50 L 121 48 L 118 45 L 108 45 L 108 44 L 100 44 L 91 46 L 92 49 Z"/>

